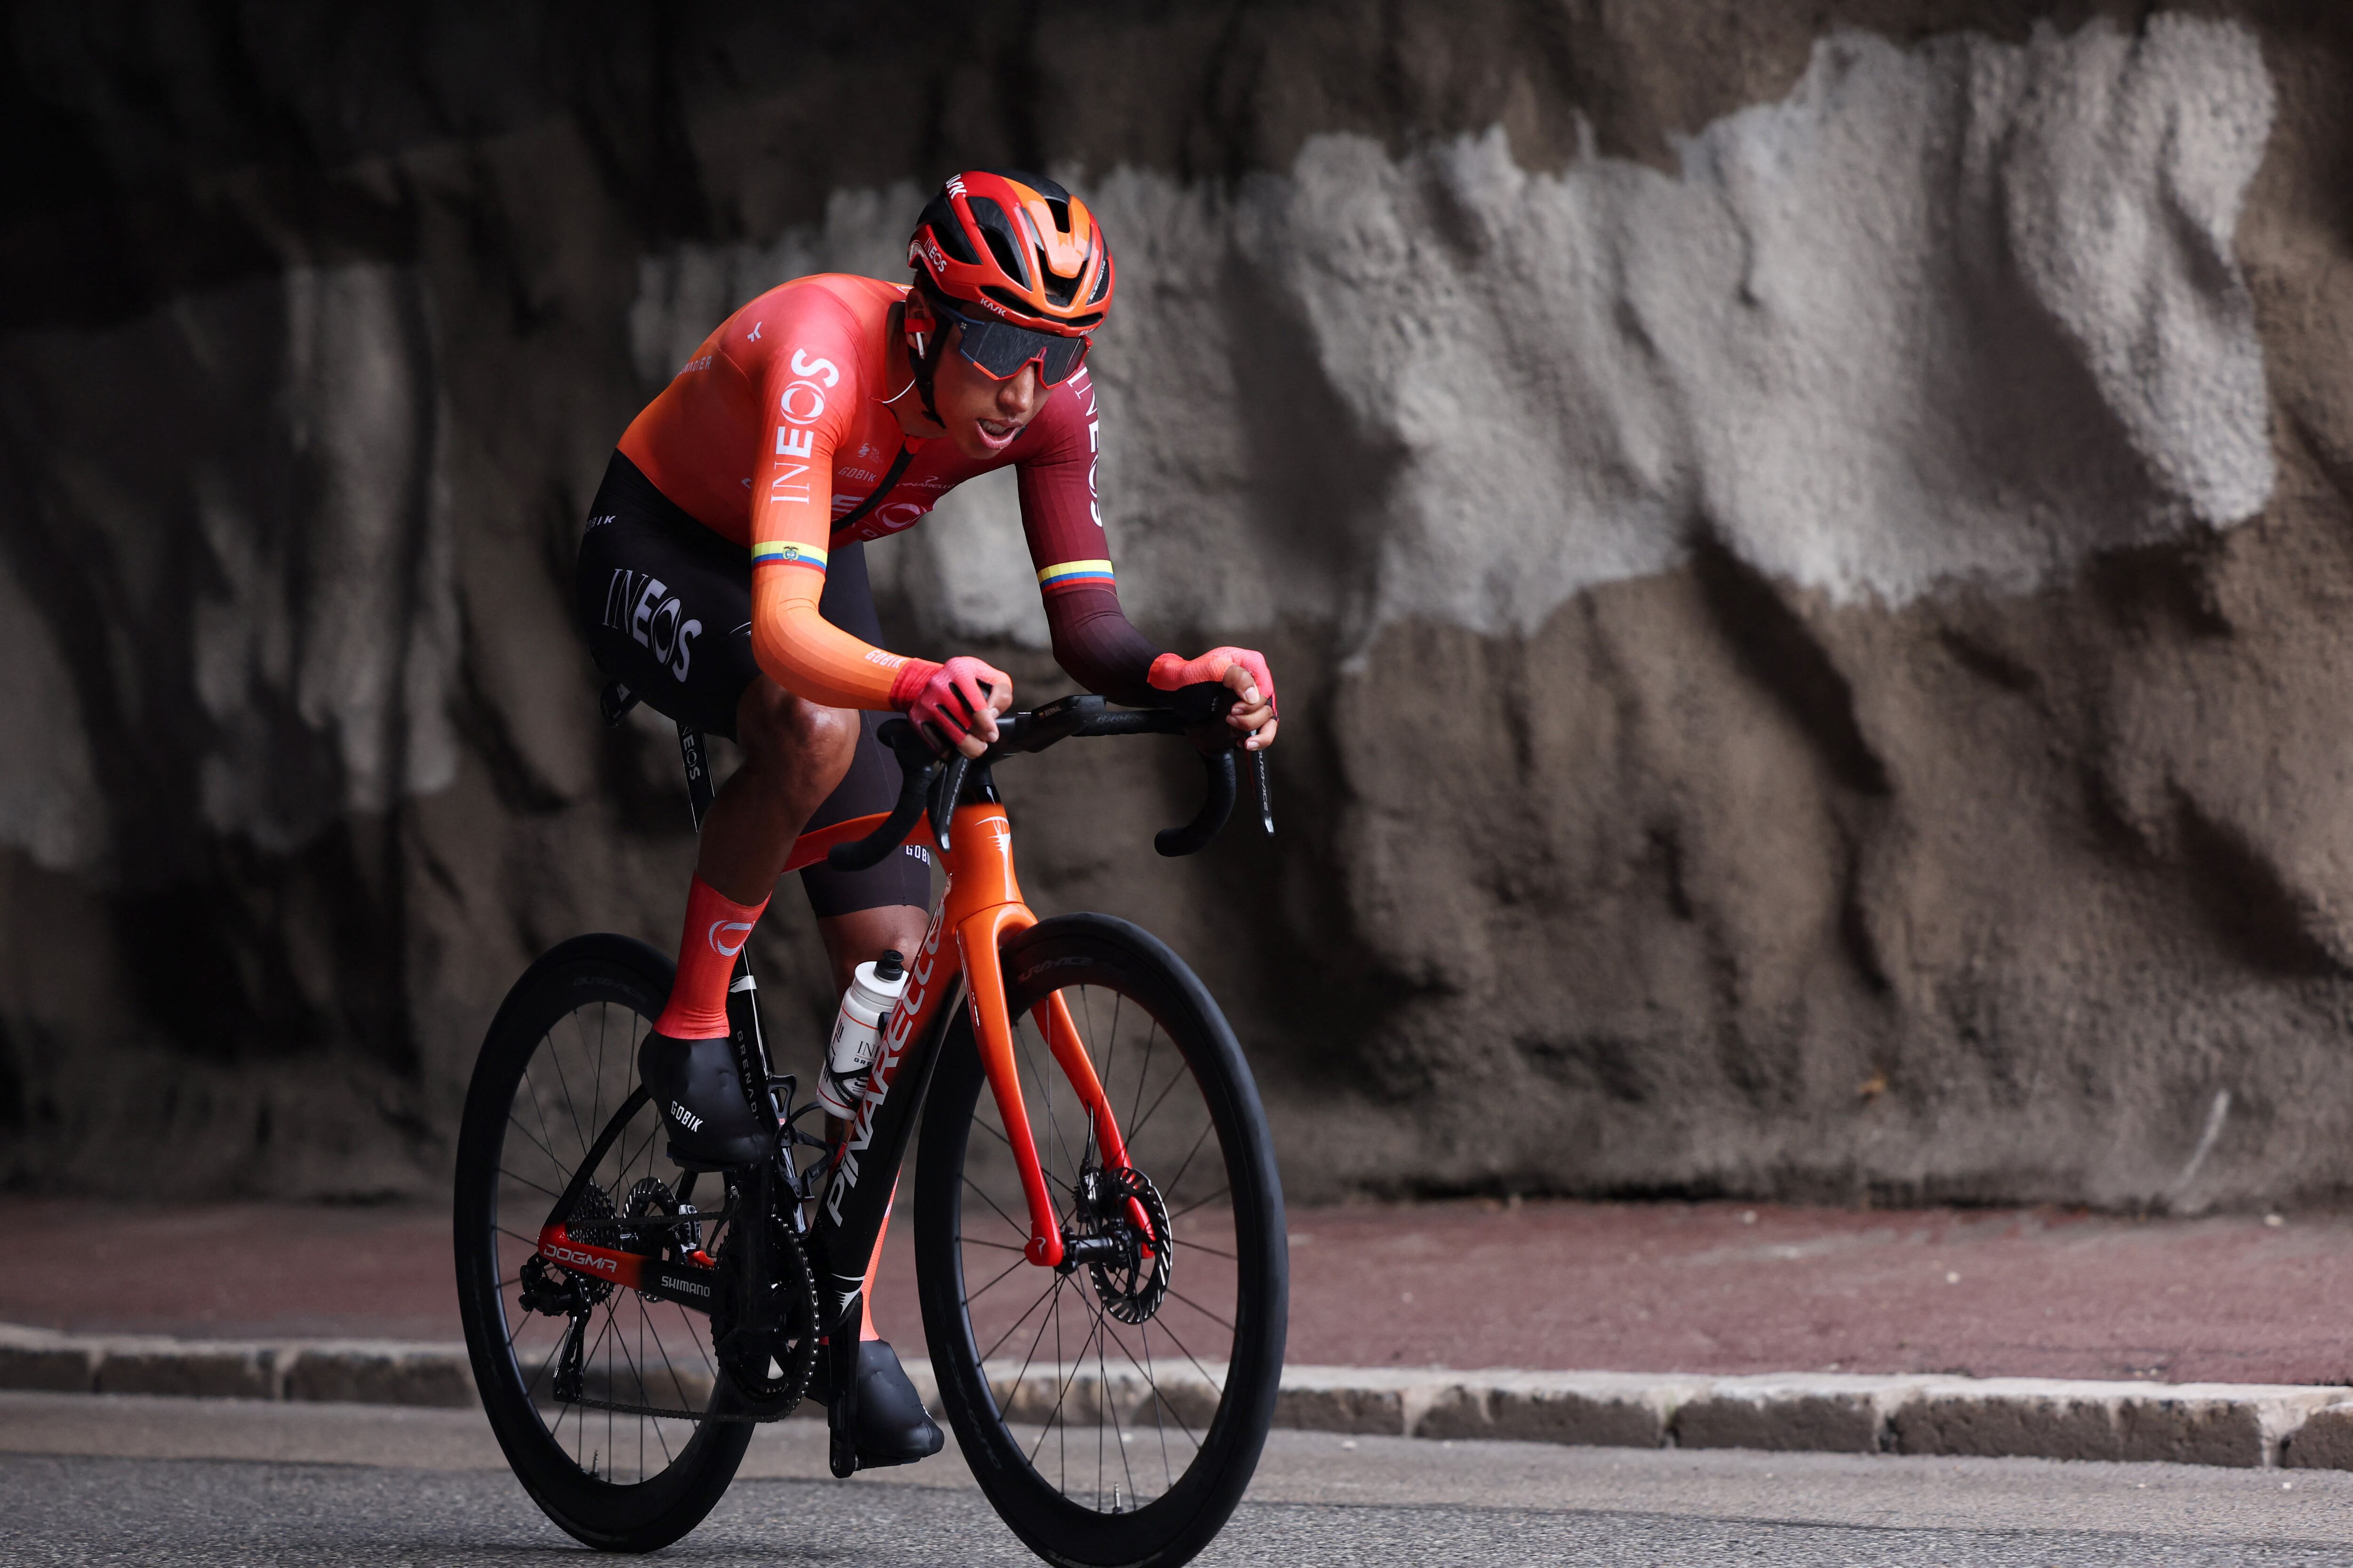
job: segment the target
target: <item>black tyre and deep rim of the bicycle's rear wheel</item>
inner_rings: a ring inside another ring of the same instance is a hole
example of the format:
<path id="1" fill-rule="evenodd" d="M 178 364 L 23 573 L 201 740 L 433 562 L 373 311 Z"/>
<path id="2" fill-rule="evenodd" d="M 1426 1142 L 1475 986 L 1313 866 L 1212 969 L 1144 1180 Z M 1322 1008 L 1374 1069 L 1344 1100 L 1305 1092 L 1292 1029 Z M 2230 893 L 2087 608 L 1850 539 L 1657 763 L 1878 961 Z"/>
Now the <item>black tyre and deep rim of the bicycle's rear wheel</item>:
<path id="1" fill-rule="evenodd" d="M 638 1041 L 649 1020 L 659 1016 L 671 990 L 671 976 L 673 966 L 666 957 L 624 936 L 581 936 L 553 947 L 515 980 L 515 987 L 499 1006 L 482 1041 L 482 1053 L 475 1060 L 459 1131 L 454 1204 L 459 1316 L 466 1324 L 466 1352 L 482 1396 L 482 1410 L 489 1415 L 489 1427 L 499 1436 L 499 1448 L 506 1450 L 515 1479 L 522 1481 L 532 1500 L 565 1533 L 605 1552 L 652 1552 L 701 1523 L 727 1490 L 736 1465 L 744 1462 L 744 1450 L 751 1443 L 751 1425 L 708 1420 L 708 1401 L 720 1396 L 715 1392 L 720 1387 L 718 1378 L 711 1378 L 711 1385 L 699 1389 L 706 1401 L 701 1406 L 706 1420 L 692 1422 L 692 1439 L 685 1439 L 671 1453 L 664 1427 L 654 1427 L 656 1436 L 664 1436 L 659 1453 L 666 1462 L 659 1472 L 642 1474 L 635 1481 L 607 1479 L 602 1474 L 607 1458 L 614 1474 L 621 1474 L 621 1453 L 612 1441 L 607 1441 L 607 1448 L 595 1450 L 595 1460 L 584 1465 L 579 1448 L 586 1436 L 588 1413 L 579 1408 L 574 1413 L 579 1415 L 581 1432 L 574 1436 L 574 1450 L 565 1450 L 560 1436 L 565 1408 L 558 1408 L 555 1429 L 551 1429 L 532 1396 L 534 1387 L 548 1385 L 555 1356 L 551 1352 L 548 1361 L 532 1371 L 525 1366 L 527 1356 L 518 1356 L 515 1352 L 518 1333 L 539 1314 L 520 1314 L 520 1321 L 511 1321 L 511 1291 L 515 1281 L 501 1279 L 499 1258 L 499 1190 L 501 1171 L 506 1171 L 501 1157 L 508 1147 L 508 1126 L 518 1126 L 522 1128 L 522 1138 L 515 1140 L 518 1145 L 539 1138 L 546 1161 L 560 1166 L 555 1147 L 562 1145 L 569 1128 L 548 1131 L 548 1124 L 541 1119 L 541 1131 L 534 1133 L 515 1112 L 527 1086 L 532 1093 L 541 1093 L 532 1079 L 541 1046 L 558 1039 L 565 1018 L 579 1018 L 588 1006 L 605 1009 L 607 1023 L 612 1011 L 621 1011 L 626 1013 L 626 1027 L 609 1030 L 621 1041 L 619 1065 L 607 1060 L 600 1048 L 598 1072 L 600 1079 L 633 1084 Z M 600 1046 L 607 1044 L 612 1041 L 600 1037 Z M 565 1081 L 565 1095 L 567 1100 L 572 1098 L 569 1081 Z M 586 1140 L 595 1138 L 598 1112 L 581 1107 L 579 1114 L 586 1117 L 586 1124 L 581 1124 L 581 1143 L 586 1147 Z M 659 1124 L 659 1117 L 654 1121 Z M 560 1119 L 555 1128 L 562 1128 Z M 631 1131 L 635 1131 L 635 1124 L 631 1124 Z M 633 1138 L 624 1138 L 621 1143 L 635 1147 Z M 652 1166 L 652 1143 L 645 1159 Z M 624 1154 L 624 1173 L 631 1168 L 635 1166 Z M 515 1190 L 513 1173 L 506 1173 L 506 1185 L 511 1192 Z M 534 1185 L 546 1187 L 546 1182 Z M 520 1244 L 536 1237 L 551 1201 L 553 1194 L 539 1201 L 536 1213 L 508 1218 L 504 1227 L 508 1253 L 527 1251 Z M 631 1291 L 612 1286 L 607 1291 L 607 1307 L 616 1298 L 635 1298 Z M 642 1298 L 638 1298 L 638 1312 L 647 1312 Z M 682 1307 L 673 1307 L 673 1312 L 685 1314 Z M 661 1345 L 659 1328 L 656 1347 L 664 1354 L 664 1366 L 671 1366 L 671 1349 Z M 621 1349 L 626 1356 L 626 1340 Z M 699 1349 L 708 1347 L 701 1345 Z M 640 1389 L 649 1387 L 645 1371 L 635 1361 L 626 1363 L 626 1373 L 638 1373 Z M 607 1373 L 607 1382 L 612 1382 L 612 1373 Z M 652 1387 L 659 1389 L 661 1378 L 654 1378 Z M 621 1396 L 624 1392 L 626 1385 L 612 1382 L 612 1394 Z M 671 1368 L 664 1392 L 671 1396 L 671 1403 L 687 1408 L 696 1396 L 696 1385 Z M 638 1403 L 654 1401 L 640 1399 Z M 642 1469 L 647 1462 L 647 1418 L 638 1420 Z M 612 1439 L 616 1429 L 612 1413 L 605 1413 L 605 1427 L 607 1439 Z"/>

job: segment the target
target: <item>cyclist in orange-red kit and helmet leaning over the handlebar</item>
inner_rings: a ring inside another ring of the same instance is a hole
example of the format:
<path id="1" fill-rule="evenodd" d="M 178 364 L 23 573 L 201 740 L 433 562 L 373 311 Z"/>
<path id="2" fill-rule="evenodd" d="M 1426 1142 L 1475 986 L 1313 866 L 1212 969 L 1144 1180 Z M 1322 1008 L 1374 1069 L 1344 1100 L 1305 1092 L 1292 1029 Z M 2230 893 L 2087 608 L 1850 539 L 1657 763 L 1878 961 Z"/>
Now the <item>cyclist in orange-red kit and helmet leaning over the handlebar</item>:
<path id="1" fill-rule="evenodd" d="M 1242 743 L 1275 738 L 1266 658 L 1233 646 L 1179 658 L 1120 611 L 1085 369 L 1113 266 L 1087 205 L 1035 174 L 958 174 L 925 205 L 908 266 L 911 284 L 795 277 L 720 322 L 631 421 L 588 508 L 576 595 L 598 665 L 744 752 L 704 818 L 678 980 L 638 1053 L 673 1145 L 699 1161 L 762 1157 L 727 1044 L 727 985 L 793 842 L 889 811 L 899 769 L 875 741 L 882 715 L 976 757 L 1012 708 L 1012 677 L 981 658 L 880 646 L 868 541 L 1012 465 L 1056 663 L 1129 705 L 1231 686 Z M 819 863 L 802 891 L 840 992 L 861 961 L 920 945 L 929 853 L 908 846 L 866 872 Z M 861 1462 L 939 1450 L 871 1314 L 856 1375 Z"/>

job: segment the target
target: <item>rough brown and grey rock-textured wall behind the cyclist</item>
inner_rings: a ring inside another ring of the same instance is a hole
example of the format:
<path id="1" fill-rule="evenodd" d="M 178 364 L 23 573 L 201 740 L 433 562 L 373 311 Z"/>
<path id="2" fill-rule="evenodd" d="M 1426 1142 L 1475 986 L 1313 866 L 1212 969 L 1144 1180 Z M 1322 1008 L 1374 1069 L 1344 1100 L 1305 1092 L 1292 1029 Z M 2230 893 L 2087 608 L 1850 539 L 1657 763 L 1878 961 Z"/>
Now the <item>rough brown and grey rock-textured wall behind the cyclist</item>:
<path id="1" fill-rule="evenodd" d="M 1129 607 L 1292 717 L 1282 839 L 1184 867 L 1176 759 L 1009 769 L 1028 882 L 1202 966 L 1294 1190 L 2341 1190 L 2341 28 L 1344 9 L 216 28 L 179 146 L 153 33 L 19 26 L 108 181 L 12 266 L 193 240 L 0 334 L 9 1175 L 440 1180 L 529 952 L 675 919 L 675 762 L 562 625 L 600 451 L 1024 158 L 1120 247 Z M 979 484 L 875 567 L 1042 696 L 1016 538 Z"/>

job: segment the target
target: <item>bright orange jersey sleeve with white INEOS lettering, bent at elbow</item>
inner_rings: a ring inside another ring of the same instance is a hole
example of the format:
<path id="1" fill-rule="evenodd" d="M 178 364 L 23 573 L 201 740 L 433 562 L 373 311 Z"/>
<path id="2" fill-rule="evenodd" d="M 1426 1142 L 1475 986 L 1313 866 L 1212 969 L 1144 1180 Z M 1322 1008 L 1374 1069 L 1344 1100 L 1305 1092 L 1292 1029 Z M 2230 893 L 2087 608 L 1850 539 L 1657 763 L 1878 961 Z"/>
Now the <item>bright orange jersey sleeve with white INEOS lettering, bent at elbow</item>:
<path id="1" fill-rule="evenodd" d="M 892 708 L 892 682 L 911 668 L 828 623 L 826 545 L 833 536 L 833 449 L 854 428 L 856 339 L 831 310 L 776 322 L 779 346 L 760 376 L 760 463 L 751 510 L 751 651 L 793 696 L 828 708 Z"/>

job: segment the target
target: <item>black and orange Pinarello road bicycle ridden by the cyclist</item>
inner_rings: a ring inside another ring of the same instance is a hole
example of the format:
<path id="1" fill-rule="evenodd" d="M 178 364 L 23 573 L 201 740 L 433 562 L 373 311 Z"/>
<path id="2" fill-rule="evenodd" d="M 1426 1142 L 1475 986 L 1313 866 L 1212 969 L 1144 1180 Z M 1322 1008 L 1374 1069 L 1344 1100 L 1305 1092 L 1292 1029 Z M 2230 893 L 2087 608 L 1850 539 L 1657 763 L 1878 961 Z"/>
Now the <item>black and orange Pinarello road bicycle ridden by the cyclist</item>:
<path id="1" fill-rule="evenodd" d="M 605 693 L 607 722 L 635 698 Z M 1233 1514 L 1273 1420 L 1289 1258 L 1266 1114 L 1207 987 L 1106 914 L 1040 919 L 993 769 L 1078 736 L 1184 733 L 1205 799 L 1158 835 L 1205 846 L 1238 797 L 1231 693 L 1179 710 L 1096 696 L 1000 719 L 979 759 L 882 726 L 887 816 L 802 835 L 788 870 L 932 846 L 946 893 L 833 1143 L 772 1070 L 739 959 L 729 1027 L 772 1152 L 682 1161 L 635 1081 L 673 964 L 624 936 L 553 947 L 506 994 L 456 1159 L 456 1276 L 489 1425 L 546 1514 L 649 1552 L 727 1490 L 758 1422 L 828 1401 L 859 1467 L 856 1338 L 913 1147 L 915 1279 L 936 1408 L 1005 1523 L 1054 1563 L 1184 1563 Z M 696 827 L 701 736 L 680 724 Z M 1261 752 L 1252 762 L 1266 832 Z M 918 1138 L 920 1107 L 920 1138 Z"/>

